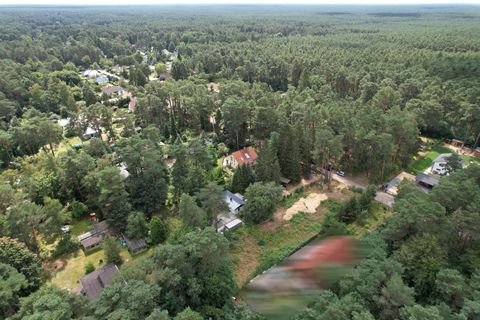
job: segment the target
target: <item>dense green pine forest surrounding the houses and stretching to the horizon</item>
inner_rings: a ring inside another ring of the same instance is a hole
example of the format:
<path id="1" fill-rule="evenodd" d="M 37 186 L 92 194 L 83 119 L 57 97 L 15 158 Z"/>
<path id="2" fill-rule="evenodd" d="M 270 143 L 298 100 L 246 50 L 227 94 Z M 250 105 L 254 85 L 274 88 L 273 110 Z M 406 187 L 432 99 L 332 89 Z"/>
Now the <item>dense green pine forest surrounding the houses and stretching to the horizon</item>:
<path id="1" fill-rule="evenodd" d="M 224 190 L 258 225 L 282 178 L 382 185 L 420 137 L 476 149 L 479 34 L 475 6 L 0 7 L 0 318 L 263 319 L 232 301 Z M 254 169 L 222 166 L 245 147 Z M 375 250 L 294 319 L 479 319 L 480 169 L 454 169 L 431 193 L 402 184 L 360 237 Z M 319 237 L 348 234 L 369 190 Z M 93 212 L 151 249 L 89 301 L 45 266 Z"/>

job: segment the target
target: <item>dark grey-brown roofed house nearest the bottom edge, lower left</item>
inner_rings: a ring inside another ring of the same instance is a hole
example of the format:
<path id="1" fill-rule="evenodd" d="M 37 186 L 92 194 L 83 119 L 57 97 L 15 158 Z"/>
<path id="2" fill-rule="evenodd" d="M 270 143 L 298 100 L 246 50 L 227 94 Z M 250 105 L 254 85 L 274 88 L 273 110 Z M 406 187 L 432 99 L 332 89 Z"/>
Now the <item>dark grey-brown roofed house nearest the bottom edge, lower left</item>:
<path id="1" fill-rule="evenodd" d="M 80 279 L 82 294 L 90 300 L 97 298 L 102 292 L 102 289 L 112 283 L 118 271 L 118 267 L 114 263 L 109 263 L 87 274 Z"/>

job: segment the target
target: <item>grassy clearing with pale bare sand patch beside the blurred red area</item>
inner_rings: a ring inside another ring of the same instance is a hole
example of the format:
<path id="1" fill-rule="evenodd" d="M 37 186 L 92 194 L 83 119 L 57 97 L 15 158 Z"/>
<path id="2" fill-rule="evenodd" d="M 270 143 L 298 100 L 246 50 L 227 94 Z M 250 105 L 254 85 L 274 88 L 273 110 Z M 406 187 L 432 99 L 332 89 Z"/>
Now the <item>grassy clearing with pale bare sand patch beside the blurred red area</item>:
<path id="1" fill-rule="evenodd" d="M 271 221 L 244 226 L 229 235 L 232 244 L 230 253 L 239 287 L 318 234 L 324 214 L 328 211 L 328 205 L 322 201 L 331 199 L 343 202 L 352 196 L 351 191 L 337 182 L 332 183 L 332 191 L 326 189 L 326 186 L 309 186 L 308 190 L 299 192 L 301 198 L 297 198 L 293 204 L 284 201 L 283 207 L 277 209 Z M 288 210 L 292 214 L 286 219 Z"/>

